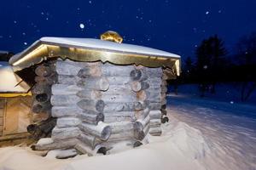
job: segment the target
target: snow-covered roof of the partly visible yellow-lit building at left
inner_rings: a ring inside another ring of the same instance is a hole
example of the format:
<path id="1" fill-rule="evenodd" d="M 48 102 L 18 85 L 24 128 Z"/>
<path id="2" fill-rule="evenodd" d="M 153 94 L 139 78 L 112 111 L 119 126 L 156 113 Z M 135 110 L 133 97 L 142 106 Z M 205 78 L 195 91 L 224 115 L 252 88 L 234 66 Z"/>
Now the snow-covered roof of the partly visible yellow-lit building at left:
<path id="1" fill-rule="evenodd" d="M 28 90 L 29 86 L 15 75 L 8 62 L 0 61 L 0 94 L 25 94 Z"/>

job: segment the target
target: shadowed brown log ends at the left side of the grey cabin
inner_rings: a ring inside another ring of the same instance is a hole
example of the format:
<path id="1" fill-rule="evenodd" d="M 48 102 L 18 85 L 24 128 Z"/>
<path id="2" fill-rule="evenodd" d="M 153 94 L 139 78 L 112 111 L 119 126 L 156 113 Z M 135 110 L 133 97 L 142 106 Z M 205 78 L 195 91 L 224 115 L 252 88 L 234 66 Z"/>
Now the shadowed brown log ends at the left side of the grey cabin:
<path id="1" fill-rule="evenodd" d="M 48 60 L 35 69 L 35 85 L 32 88 L 32 124 L 27 131 L 34 139 L 48 137 L 55 127 L 55 118 L 51 116 L 51 86 L 57 82 L 55 61 Z"/>

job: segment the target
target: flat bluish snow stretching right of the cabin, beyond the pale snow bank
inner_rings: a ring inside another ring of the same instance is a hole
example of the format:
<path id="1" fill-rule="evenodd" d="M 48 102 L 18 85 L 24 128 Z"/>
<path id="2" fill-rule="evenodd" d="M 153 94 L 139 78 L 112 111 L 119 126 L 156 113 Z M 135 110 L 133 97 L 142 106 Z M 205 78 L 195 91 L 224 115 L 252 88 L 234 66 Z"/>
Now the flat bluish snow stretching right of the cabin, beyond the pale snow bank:
<path id="1" fill-rule="evenodd" d="M 256 105 L 169 95 L 170 118 L 198 129 L 210 147 L 202 159 L 214 169 L 256 169 Z M 212 159 L 212 160 L 211 160 Z M 217 168 L 215 168 L 217 169 Z"/>

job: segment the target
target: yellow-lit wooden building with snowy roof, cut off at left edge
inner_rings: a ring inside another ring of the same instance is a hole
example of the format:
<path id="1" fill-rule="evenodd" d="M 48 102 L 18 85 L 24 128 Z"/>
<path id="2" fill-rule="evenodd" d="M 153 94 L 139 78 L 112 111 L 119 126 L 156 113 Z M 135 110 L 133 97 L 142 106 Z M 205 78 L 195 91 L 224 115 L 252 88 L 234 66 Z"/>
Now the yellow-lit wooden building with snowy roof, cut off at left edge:
<path id="1" fill-rule="evenodd" d="M 0 146 L 26 141 L 31 104 L 30 86 L 15 75 L 8 62 L 0 62 Z"/>

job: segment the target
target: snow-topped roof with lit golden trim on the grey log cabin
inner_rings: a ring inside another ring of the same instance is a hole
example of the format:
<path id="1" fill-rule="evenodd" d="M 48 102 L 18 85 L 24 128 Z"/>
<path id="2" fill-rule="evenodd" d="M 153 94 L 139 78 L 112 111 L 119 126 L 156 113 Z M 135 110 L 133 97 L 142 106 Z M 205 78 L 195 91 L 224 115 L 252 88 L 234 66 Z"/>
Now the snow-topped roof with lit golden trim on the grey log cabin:
<path id="1" fill-rule="evenodd" d="M 9 63 L 15 66 L 15 70 L 22 70 L 52 57 L 79 61 L 102 60 L 120 65 L 165 65 L 176 67 L 177 72 L 180 69 L 180 56 L 177 54 L 126 43 L 71 37 L 42 37 L 20 54 L 15 54 Z"/>

